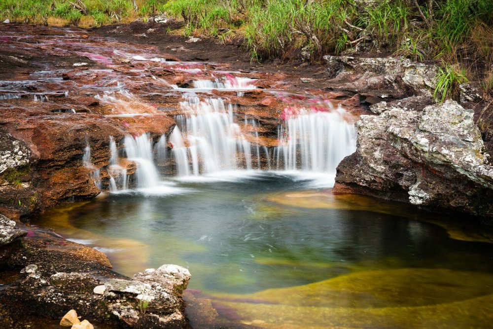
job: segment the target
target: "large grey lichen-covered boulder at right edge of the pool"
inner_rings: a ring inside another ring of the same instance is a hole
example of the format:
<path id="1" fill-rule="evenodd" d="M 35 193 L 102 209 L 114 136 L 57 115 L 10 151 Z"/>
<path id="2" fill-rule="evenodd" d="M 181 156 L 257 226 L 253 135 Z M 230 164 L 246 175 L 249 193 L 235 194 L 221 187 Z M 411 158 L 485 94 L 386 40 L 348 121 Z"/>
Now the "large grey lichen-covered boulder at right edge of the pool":
<path id="1" fill-rule="evenodd" d="M 338 166 L 334 192 L 493 219 L 493 166 L 473 110 L 450 100 L 421 112 L 402 104 L 378 108 L 380 115 L 356 123 L 357 150 Z"/>

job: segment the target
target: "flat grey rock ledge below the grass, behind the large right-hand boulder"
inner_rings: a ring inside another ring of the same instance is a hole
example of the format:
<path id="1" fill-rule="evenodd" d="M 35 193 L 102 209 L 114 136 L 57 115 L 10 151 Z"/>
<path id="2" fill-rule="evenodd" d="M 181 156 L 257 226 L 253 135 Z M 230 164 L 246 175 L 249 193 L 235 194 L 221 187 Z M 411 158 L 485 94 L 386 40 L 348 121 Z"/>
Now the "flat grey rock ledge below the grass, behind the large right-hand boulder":
<path id="1" fill-rule="evenodd" d="M 437 67 L 403 57 L 324 56 L 331 88 L 402 98 L 431 96 Z"/>

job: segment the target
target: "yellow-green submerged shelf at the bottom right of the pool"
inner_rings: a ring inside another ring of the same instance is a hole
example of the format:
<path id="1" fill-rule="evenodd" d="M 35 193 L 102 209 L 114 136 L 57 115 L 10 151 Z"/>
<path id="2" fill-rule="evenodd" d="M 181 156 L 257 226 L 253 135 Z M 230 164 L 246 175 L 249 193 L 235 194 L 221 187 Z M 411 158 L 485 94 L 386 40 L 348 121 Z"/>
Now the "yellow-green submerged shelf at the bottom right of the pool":
<path id="1" fill-rule="evenodd" d="M 405 268 L 212 299 L 262 328 L 485 328 L 492 293 L 491 274 Z"/>

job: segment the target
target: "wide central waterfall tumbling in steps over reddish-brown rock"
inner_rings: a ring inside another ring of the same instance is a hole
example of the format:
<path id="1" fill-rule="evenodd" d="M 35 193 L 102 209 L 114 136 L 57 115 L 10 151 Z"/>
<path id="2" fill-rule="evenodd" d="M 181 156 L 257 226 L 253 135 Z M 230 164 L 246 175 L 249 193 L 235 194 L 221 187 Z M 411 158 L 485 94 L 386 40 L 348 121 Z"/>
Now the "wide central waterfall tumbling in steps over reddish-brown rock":
<path id="1" fill-rule="evenodd" d="M 231 105 L 226 107 L 221 99 L 199 102 L 191 97 L 181 106 L 187 114 L 176 117 L 170 137 L 178 176 L 251 169 L 251 145 L 234 122 Z"/>

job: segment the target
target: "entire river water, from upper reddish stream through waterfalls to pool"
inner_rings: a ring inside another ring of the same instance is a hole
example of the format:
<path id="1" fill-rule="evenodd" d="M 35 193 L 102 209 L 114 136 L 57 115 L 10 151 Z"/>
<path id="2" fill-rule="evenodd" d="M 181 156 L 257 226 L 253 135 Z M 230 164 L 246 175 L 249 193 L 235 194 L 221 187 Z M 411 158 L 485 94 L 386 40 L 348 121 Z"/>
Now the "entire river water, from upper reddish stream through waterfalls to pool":
<path id="1" fill-rule="evenodd" d="M 356 118 L 337 102 L 265 88 L 284 105 L 272 137 L 266 120 L 236 104 L 258 91 L 258 79 L 77 36 L 64 47 L 106 66 L 86 71 L 104 73 L 97 85 L 78 88 L 97 91 L 111 108 L 107 117 L 162 115 L 168 110 L 156 110 L 149 95 L 154 101 L 172 95 L 178 110 L 166 114 L 176 126 L 159 138 L 108 136 L 106 185 L 88 138 L 80 161 L 102 194 L 53 208 L 34 224 L 104 252 L 125 275 L 165 263 L 187 267 L 194 328 L 491 325 L 493 245 L 482 228 L 404 204 L 332 194 L 338 163 L 356 147 Z M 47 38 L 43 46 L 56 42 Z M 115 56 L 192 80 L 177 85 L 137 68 L 122 76 Z M 52 73 L 33 74 L 47 81 Z M 144 84 L 155 89 L 136 94 Z M 27 97 L 12 83 L 2 88 L 2 100 Z M 42 93 L 33 97 L 49 102 Z M 136 164 L 135 173 L 128 163 Z"/>

